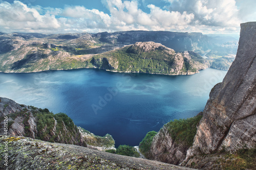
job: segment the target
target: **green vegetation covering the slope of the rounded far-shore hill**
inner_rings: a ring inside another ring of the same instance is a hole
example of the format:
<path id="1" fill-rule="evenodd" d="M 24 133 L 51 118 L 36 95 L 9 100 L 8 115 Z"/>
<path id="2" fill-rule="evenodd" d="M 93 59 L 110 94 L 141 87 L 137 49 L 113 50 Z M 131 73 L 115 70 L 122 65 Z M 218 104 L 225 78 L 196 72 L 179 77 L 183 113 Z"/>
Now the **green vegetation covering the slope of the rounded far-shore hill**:
<path id="1" fill-rule="evenodd" d="M 94 58 L 98 59 L 106 57 L 116 59 L 118 61 L 117 71 L 168 74 L 172 69 L 173 58 L 166 52 L 162 50 L 155 50 L 139 53 L 139 51 L 132 51 L 130 48 L 131 46 L 126 46 L 119 50 L 99 54 Z M 95 64 L 99 65 L 99 68 L 102 68 L 99 63 Z"/>

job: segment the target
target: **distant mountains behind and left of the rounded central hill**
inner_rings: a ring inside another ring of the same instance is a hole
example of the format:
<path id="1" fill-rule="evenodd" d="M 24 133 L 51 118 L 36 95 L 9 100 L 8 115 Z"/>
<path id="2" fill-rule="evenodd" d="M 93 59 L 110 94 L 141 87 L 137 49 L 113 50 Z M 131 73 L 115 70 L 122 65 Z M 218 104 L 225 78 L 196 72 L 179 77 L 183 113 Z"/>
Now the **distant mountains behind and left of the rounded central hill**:
<path id="1" fill-rule="evenodd" d="M 191 51 L 201 55 L 210 52 L 220 42 L 226 42 L 223 39 L 215 39 L 201 33 L 162 31 L 48 35 L 37 33 L 2 34 L 0 35 L 0 71 L 36 72 L 94 67 L 90 62 L 94 55 L 120 49 L 125 45 L 149 41 L 161 43 L 174 49 L 176 53 Z M 223 46 L 223 48 L 229 47 Z M 228 55 L 228 52 L 225 55 Z M 213 52 L 212 54 L 211 57 L 219 55 Z M 217 59 L 221 57 L 224 56 L 217 56 Z M 214 60 L 215 58 L 212 58 L 209 62 L 214 63 Z M 230 62 L 224 59 L 212 65 L 215 65 L 214 68 L 227 69 Z"/>

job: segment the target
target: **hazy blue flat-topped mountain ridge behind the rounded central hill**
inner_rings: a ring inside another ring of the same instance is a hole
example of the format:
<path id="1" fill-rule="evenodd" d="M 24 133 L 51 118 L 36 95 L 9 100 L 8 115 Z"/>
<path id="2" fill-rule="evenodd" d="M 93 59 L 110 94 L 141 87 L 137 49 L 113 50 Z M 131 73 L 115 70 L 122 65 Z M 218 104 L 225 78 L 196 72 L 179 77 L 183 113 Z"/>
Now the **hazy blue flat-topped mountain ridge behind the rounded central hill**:
<path id="1" fill-rule="evenodd" d="M 136 42 L 154 41 L 173 48 L 177 52 L 195 51 L 204 53 L 214 47 L 211 38 L 202 33 L 176 33 L 168 31 L 124 31 L 115 33 L 98 33 L 94 37 L 101 42 L 112 44 L 134 44 Z"/>

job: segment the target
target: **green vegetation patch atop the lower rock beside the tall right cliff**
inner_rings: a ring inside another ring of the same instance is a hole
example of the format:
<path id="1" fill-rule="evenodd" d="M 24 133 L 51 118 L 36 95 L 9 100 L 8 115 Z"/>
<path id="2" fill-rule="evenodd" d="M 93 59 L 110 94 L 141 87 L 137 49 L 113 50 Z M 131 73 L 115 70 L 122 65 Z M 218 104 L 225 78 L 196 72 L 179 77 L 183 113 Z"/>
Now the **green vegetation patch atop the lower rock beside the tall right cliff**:
<path id="1" fill-rule="evenodd" d="M 183 142 L 188 148 L 193 144 L 197 133 L 197 124 L 202 116 L 198 115 L 187 119 L 174 119 L 164 126 L 167 127 L 172 138 L 177 142 Z"/>

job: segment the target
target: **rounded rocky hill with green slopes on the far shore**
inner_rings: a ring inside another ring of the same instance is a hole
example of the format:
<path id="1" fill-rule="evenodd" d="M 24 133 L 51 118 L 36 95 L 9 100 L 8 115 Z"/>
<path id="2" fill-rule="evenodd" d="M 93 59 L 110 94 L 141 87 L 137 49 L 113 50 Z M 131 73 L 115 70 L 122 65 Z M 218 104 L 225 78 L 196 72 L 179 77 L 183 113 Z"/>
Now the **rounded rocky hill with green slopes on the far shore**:
<path id="1" fill-rule="evenodd" d="M 197 53 L 176 53 L 160 43 L 136 42 L 115 51 L 92 57 L 91 63 L 101 69 L 119 72 L 145 72 L 166 75 L 191 75 L 209 67 Z"/>

